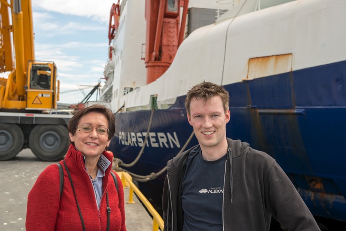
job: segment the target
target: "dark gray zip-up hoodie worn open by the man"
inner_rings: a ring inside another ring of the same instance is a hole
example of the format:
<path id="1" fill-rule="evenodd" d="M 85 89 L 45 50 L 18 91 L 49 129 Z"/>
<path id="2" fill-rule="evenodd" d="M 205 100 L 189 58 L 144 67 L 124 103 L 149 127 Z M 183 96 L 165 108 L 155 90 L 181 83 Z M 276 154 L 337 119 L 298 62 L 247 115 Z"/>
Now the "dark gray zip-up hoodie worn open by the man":
<path id="1" fill-rule="evenodd" d="M 227 138 L 223 230 L 269 231 L 273 215 L 289 231 L 319 231 L 318 225 L 286 173 L 268 154 Z M 181 183 L 189 155 L 199 145 L 168 161 L 162 209 L 164 231 L 181 231 L 184 212 Z"/>

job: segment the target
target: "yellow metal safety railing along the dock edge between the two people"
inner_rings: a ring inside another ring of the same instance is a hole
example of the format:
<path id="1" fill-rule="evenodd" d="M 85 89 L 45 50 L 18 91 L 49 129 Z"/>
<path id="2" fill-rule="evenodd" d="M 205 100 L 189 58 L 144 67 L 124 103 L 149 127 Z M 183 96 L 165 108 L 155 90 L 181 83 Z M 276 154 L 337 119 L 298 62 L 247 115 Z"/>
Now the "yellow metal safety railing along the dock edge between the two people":
<path id="1" fill-rule="evenodd" d="M 120 174 L 119 174 L 120 175 Z M 121 172 L 121 181 L 122 184 L 130 186 L 130 193 L 129 193 L 129 201 L 126 203 L 133 204 L 135 203 L 134 198 L 134 192 L 138 196 L 139 200 L 142 201 L 142 203 L 145 205 L 145 207 L 148 209 L 150 214 L 153 216 L 153 231 L 158 231 L 158 228 L 160 227 L 160 230 L 163 230 L 163 219 L 158 214 L 158 212 L 154 209 L 152 204 L 147 200 L 147 198 L 139 191 L 139 189 L 135 186 L 134 182 L 132 182 L 132 177 L 129 173 Z"/>

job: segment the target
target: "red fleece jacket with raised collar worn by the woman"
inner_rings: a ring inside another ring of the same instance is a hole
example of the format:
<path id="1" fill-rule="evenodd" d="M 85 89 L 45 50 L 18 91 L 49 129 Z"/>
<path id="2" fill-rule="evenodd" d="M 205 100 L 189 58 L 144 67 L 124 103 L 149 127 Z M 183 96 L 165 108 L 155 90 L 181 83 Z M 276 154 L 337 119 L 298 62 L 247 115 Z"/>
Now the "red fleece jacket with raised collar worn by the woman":
<path id="1" fill-rule="evenodd" d="M 112 154 L 102 153 L 111 162 Z M 110 175 L 112 164 L 106 170 L 102 181 L 103 195 L 100 208 L 97 208 L 94 187 L 85 171 L 83 155 L 71 144 L 65 156 L 66 165 L 71 173 L 78 204 L 83 216 L 86 231 L 105 231 L 107 228 L 108 192 L 110 231 L 126 231 L 124 191 L 121 180 L 116 174 L 119 194 L 116 192 L 113 177 Z M 64 169 L 64 187 L 60 198 L 59 170 L 56 164 L 49 165 L 36 180 L 28 195 L 26 230 L 27 231 L 79 231 L 82 230 L 77 203 L 70 180 Z"/>

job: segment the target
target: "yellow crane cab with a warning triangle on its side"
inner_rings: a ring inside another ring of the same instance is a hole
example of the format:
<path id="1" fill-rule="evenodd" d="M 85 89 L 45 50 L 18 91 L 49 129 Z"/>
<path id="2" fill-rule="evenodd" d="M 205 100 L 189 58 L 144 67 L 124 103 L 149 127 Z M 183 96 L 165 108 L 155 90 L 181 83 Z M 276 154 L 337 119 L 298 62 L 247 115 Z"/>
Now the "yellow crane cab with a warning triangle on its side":
<path id="1" fill-rule="evenodd" d="M 27 109 L 57 108 L 56 64 L 29 61 L 27 73 Z"/>

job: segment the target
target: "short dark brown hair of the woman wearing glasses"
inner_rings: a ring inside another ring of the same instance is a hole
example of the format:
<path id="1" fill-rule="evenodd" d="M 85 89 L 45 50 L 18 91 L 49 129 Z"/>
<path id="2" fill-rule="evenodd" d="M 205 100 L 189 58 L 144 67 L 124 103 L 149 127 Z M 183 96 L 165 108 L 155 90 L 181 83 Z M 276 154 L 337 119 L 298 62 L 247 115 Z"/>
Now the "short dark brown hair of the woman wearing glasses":
<path id="1" fill-rule="evenodd" d="M 71 133 L 72 135 L 75 135 L 80 118 L 90 112 L 96 112 L 106 116 L 108 120 L 108 129 L 109 129 L 108 140 L 112 139 L 112 137 L 115 134 L 115 116 L 111 109 L 107 108 L 106 106 L 102 104 L 93 104 L 89 107 L 86 107 L 80 110 L 74 116 L 72 116 L 67 127 L 67 130 L 69 131 L 69 133 Z"/>

